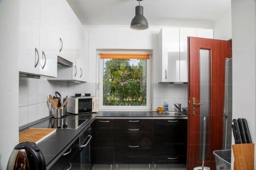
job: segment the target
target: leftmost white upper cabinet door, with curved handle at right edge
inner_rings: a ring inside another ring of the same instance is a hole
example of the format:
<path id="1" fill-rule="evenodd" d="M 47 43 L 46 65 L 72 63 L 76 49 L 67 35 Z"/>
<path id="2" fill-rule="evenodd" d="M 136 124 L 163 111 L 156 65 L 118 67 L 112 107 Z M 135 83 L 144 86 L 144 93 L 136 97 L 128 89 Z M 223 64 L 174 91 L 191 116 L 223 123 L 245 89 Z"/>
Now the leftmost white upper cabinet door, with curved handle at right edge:
<path id="1" fill-rule="evenodd" d="M 20 0 L 19 71 L 38 75 L 40 0 Z"/>

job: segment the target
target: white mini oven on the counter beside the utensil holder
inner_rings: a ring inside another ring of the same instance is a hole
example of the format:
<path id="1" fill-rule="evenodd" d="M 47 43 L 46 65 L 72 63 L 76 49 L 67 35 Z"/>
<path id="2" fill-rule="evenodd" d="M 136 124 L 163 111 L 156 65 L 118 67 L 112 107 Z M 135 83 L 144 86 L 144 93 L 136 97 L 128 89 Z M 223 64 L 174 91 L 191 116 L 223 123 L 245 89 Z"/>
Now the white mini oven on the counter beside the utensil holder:
<path id="1" fill-rule="evenodd" d="M 69 113 L 80 114 L 99 111 L 99 98 L 71 96 L 68 101 L 67 112 Z"/>

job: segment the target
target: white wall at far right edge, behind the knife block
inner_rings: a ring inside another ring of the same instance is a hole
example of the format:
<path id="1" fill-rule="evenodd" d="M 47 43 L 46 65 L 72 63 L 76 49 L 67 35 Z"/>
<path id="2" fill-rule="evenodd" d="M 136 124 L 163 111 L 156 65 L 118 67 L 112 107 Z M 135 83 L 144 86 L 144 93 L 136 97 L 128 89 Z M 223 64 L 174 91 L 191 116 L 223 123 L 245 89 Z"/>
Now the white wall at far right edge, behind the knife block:
<path id="1" fill-rule="evenodd" d="M 255 3 L 254 0 L 231 1 L 233 57 L 232 115 L 233 118 L 243 117 L 247 119 L 253 142 L 256 141 Z M 254 156 L 254 158 L 256 157 Z"/>

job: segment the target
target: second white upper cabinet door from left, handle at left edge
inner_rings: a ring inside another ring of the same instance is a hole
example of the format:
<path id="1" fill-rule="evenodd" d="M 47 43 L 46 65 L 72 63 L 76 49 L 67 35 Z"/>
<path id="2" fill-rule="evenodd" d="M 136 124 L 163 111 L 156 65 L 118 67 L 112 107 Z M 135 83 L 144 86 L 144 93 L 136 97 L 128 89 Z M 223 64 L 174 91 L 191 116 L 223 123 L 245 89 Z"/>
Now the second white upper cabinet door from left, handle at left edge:
<path id="1" fill-rule="evenodd" d="M 41 0 L 39 74 L 57 77 L 59 1 Z"/>

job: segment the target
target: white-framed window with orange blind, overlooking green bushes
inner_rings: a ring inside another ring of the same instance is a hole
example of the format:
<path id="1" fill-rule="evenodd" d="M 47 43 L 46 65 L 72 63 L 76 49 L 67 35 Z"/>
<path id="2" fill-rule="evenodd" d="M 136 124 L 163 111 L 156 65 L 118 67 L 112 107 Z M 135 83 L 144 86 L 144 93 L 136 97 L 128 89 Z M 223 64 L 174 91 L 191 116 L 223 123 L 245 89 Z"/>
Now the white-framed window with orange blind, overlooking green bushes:
<path id="1" fill-rule="evenodd" d="M 149 110 L 149 54 L 100 55 L 100 109 Z"/>

